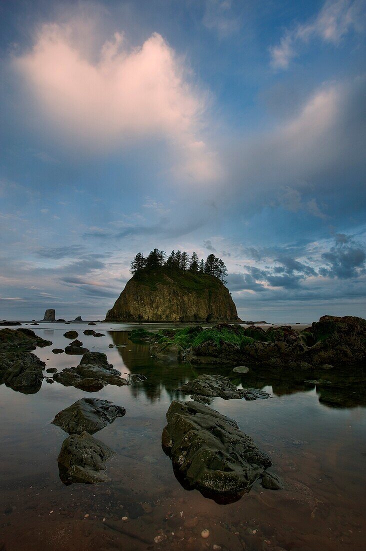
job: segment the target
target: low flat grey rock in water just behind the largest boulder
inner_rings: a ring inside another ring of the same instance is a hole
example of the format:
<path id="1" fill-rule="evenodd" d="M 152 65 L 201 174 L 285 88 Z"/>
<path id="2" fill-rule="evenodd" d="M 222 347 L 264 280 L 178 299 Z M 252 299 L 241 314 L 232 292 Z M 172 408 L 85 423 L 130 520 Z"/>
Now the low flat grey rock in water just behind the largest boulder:
<path id="1" fill-rule="evenodd" d="M 199 375 L 197 379 L 182 385 L 181 390 L 184 394 L 188 395 L 192 394 L 209 398 L 219 396 L 225 400 L 231 398 L 255 400 L 256 398 L 269 397 L 267 392 L 256 388 L 250 388 L 248 390 L 237 388 L 230 379 L 222 377 L 221 375 Z"/>

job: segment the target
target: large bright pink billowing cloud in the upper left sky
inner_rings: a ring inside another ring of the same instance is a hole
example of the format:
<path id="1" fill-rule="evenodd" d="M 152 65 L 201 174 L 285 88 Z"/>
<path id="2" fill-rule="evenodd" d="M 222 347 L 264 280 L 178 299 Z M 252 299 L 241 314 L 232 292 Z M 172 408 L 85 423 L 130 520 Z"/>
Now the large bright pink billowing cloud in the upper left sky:
<path id="1" fill-rule="evenodd" d="M 95 33 L 90 25 L 89 36 Z M 31 50 L 14 58 L 53 132 L 97 152 L 163 139 L 173 144 L 179 174 L 215 179 L 215 155 L 199 138 L 206 94 L 190 84 L 188 69 L 163 37 L 154 33 L 131 48 L 115 33 L 97 58 L 80 44 L 75 23 L 44 24 Z"/>

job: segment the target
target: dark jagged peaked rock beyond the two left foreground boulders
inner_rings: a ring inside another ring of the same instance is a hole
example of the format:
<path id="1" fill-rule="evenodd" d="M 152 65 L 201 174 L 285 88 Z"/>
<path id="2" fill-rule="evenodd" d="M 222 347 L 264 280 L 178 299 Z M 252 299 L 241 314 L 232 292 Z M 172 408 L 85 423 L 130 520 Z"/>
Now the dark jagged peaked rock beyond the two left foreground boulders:
<path id="1" fill-rule="evenodd" d="M 108 363 L 106 354 L 89 351 L 83 355 L 76 368 L 65 368 L 54 374 L 53 379 L 64 386 L 74 386 L 88 392 L 101 390 L 107 384 L 130 384 L 121 377 L 120 371 L 113 369 L 113 365 Z"/>

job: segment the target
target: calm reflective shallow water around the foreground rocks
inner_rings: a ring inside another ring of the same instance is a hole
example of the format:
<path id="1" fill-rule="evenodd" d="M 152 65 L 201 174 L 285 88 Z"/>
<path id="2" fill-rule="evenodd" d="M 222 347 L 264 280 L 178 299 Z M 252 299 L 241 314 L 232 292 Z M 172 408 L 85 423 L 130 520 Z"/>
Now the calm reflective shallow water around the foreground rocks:
<path id="1" fill-rule="evenodd" d="M 236 503 L 218 505 L 187 491 L 161 448 L 165 414 L 183 382 L 217 368 L 159 364 L 148 345 L 128 341 L 127 325 L 100 323 L 105 337 L 84 336 L 88 326 L 42 324 L 31 329 L 52 346 L 35 350 L 47 367 L 78 364 L 80 356 L 53 354 L 63 333 L 76 329 L 84 346 L 105 352 L 122 372 L 142 373 L 144 383 L 108 385 L 87 393 L 43 381 L 35 394 L 0 386 L 0 549 L 362 549 L 366 504 L 365 377 L 312 373 L 328 387 L 299 377 L 261 371 L 233 377 L 238 386 L 263 388 L 267 400 L 214 399 L 211 407 L 235 419 L 272 457 L 271 471 L 286 488 L 256 483 Z M 111 329 L 112 328 L 112 331 Z M 108 344 L 114 348 L 108 348 Z M 118 348 L 116 347 L 118 345 Z M 95 347 L 95 348 L 94 348 Z M 123 418 L 95 434 L 117 453 L 107 466 L 111 482 L 65 486 L 57 456 L 67 434 L 51 424 L 77 399 L 97 396 L 126 409 Z M 84 518 L 85 515 L 89 515 Z M 127 520 L 122 520 L 127 517 Z M 200 536 L 204 529 L 210 536 Z M 154 543 L 156 536 L 161 543 Z M 165 538 L 166 537 L 166 538 Z"/>

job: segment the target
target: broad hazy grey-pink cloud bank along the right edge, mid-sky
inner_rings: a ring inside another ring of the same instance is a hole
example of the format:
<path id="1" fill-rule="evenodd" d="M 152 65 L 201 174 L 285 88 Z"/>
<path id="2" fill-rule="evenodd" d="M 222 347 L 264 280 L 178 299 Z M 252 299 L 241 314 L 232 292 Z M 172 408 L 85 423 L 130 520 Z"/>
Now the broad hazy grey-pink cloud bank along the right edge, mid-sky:
<path id="1" fill-rule="evenodd" d="M 280 205 L 338 222 L 362 212 L 365 84 L 363 77 L 324 84 L 296 116 L 227 147 L 234 200 L 238 187 L 245 193 L 242 209 Z"/>

